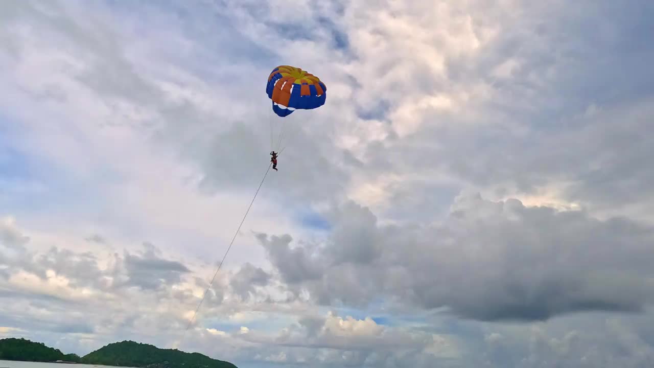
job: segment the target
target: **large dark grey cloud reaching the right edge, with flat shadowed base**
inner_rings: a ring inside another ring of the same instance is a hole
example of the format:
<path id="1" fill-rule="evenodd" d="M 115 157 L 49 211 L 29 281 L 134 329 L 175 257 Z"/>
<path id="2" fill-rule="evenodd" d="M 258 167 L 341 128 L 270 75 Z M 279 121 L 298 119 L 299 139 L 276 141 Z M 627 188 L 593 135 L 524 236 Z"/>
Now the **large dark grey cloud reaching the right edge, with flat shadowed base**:
<path id="1" fill-rule="evenodd" d="M 479 196 L 459 198 L 449 217 L 430 227 L 375 225 L 370 212 L 351 205 L 338 213 L 344 223 L 368 221 L 358 229 L 373 235 L 362 240 L 361 232 L 335 227 L 311 257 L 301 246 L 291 249 L 288 237 L 260 236 L 283 279 L 319 303 L 386 295 L 465 318 L 530 321 L 640 312 L 654 295 L 645 281 L 654 228 L 628 219 L 599 221 L 585 212 Z M 370 239 L 379 253 L 366 250 Z"/>

